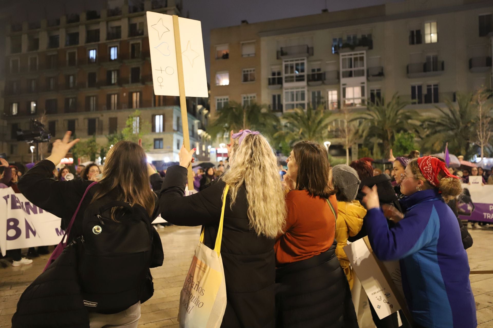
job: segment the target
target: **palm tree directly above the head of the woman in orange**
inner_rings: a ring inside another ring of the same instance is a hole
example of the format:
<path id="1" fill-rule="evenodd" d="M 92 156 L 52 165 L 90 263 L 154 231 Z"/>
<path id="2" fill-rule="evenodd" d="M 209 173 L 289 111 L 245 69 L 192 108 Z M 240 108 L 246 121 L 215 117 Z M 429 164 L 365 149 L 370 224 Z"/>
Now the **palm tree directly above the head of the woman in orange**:
<path id="1" fill-rule="evenodd" d="M 274 137 L 292 145 L 299 140 L 311 140 L 323 142 L 329 136 L 329 125 L 333 120 L 332 113 L 323 110 L 323 106 L 313 109 L 311 106 L 305 111 L 295 108 L 293 112 L 285 113 L 282 116 L 284 121 L 283 129 L 277 132 Z"/>

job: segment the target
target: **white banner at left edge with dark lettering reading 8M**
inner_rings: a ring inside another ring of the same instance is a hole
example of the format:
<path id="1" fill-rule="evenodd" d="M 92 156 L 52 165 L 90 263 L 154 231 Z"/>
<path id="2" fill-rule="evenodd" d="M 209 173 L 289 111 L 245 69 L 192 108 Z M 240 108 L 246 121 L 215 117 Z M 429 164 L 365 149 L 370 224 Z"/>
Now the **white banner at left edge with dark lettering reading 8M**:
<path id="1" fill-rule="evenodd" d="M 12 188 L 0 189 L 0 248 L 9 249 L 56 245 L 65 232 L 61 219 L 31 204 Z"/>

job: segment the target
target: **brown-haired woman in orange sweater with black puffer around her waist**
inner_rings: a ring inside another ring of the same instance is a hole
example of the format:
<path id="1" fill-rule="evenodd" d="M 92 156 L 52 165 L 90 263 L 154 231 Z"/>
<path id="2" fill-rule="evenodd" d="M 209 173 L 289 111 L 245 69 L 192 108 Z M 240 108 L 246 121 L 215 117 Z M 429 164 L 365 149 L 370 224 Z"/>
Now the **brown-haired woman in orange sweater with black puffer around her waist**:
<path id="1" fill-rule="evenodd" d="M 276 240 L 276 327 L 358 327 L 348 280 L 336 256 L 337 201 L 325 147 L 294 145 L 286 160 L 285 233 Z M 278 176 L 279 180 L 279 176 Z"/>

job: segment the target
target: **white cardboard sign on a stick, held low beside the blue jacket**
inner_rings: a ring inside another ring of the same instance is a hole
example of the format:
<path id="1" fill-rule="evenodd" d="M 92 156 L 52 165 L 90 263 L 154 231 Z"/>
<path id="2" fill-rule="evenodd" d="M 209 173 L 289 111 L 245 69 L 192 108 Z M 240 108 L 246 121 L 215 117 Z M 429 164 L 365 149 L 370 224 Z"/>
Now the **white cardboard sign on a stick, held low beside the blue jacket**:
<path id="1" fill-rule="evenodd" d="M 367 237 L 345 246 L 344 251 L 378 317 L 383 319 L 402 309 L 411 320 L 402 292 L 399 262 L 379 261 Z"/>

